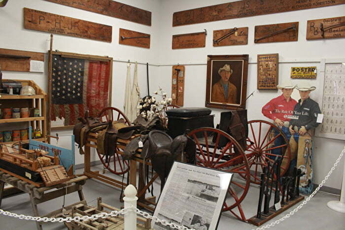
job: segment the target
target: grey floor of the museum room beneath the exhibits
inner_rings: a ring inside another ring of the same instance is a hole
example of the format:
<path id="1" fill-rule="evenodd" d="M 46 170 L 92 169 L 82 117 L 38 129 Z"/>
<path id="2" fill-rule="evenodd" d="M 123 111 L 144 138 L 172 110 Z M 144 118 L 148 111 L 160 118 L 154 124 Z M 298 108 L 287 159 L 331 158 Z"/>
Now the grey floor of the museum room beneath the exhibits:
<path id="1" fill-rule="evenodd" d="M 103 165 L 96 165 L 93 170 L 102 171 Z M 82 169 L 76 170 L 77 173 L 82 173 Z M 107 172 L 107 176 L 112 176 Z M 117 177 L 122 180 L 122 177 Z M 160 189 L 159 181 L 154 183 L 155 196 L 158 197 Z M 121 207 L 123 203 L 119 202 L 120 189 L 114 189 L 102 182 L 90 179 L 86 181 L 83 186 L 84 197 L 89 205 L 97 204 L 97 197 L 102 197 L 103 202 L 115 207 Z M 247 219 L 255 215 L 257 209 L 259 189 L 257 186 L 251 186 L 248 194 L 242 202 L 244 213 Z M 327 207 L 327 202 L 330 200 L 337 200 L 339 196 L 334 196 L 322 192 L 318 192 L 302 209 L 295 215 L 292 215 L 287 220 L 284 220 L 279 225 L 271 229 L 279 230 L 344 230 L 345 214 L 335 212 Z M 65 204 L 69 205 L 79 200 L 77 193 L 66 196 Z M 41 215 L 61 208 L 63 204 L 63 197 L 38 204 L 38 211 Z M 291 211 L 297 205 L 289 209 Z M 1 209 L 17 214 L 33 215 L 30 199 L 28 194 L 22 194 L 15 197 L 9 197 L 2 200 Z M 273 220 L 286 215 L 289 211 L 285 211 L 278 215 Z M 271 222 L 268 222 L 271 223 Z M 35 230 L 36 225 L 34 221 L 19 220 L 12 217 L 0 216 L 0 230 Z M 48 223 L 43 225 L 43 230 L 61 230 L 66 229 L 62 223 Z M 223 213 L 218 225 L 218 230 L 251 230 L 255 226 L 241 222 L 235 219 L 230 212 Z"/>

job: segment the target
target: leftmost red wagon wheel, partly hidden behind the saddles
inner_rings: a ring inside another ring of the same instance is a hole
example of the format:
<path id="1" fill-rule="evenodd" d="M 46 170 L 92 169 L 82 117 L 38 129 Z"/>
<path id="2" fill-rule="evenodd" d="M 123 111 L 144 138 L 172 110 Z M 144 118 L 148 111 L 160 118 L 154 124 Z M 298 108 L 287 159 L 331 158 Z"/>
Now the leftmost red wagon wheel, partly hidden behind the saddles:
<path id="1" fill-rule="evenodd" d="M 104 119 L 105 121 L 117 121 L 123 118 L 126 121 L 126 125 L 131 125 L 126 115 L 121 110 L 114 107 L 105 107 L 99 113 L 98 117 L 101 118 L 101 121 L 104 121 Z M 98 151 L 97 155 L 106 169 L 111 173 L 121 175 L 128 172 L 129 164 L 127 161 L 122 161 L 122 156 L 118 154 L 118 152 L 121 152 L 121 149 L 116 148 L 116 152 L 112 156 L 100 154 Z"/>

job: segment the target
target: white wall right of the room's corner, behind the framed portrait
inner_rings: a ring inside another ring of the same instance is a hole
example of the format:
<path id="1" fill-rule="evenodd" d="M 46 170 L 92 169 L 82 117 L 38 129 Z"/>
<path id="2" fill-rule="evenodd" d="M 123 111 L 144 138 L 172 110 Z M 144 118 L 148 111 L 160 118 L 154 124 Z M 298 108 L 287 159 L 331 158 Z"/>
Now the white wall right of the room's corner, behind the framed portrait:
<path id="1" fill-rule="evenodd" d="M 234 0 L 162 0 L 161 30 L 160 30 L 160 49 L 159 78 L 156 84 L 171 93 L 171 65 L 185 64 L 185 89 L 184 106 L 205 106 L 206 99 L 206 74 L 207 74 L 207 55 L 224 54 L 249 54 L 248 66 L 248 86 L 247 96 L 256 90 L 257 85 L 257 65 L 258 54 L 279 54 L 279 82 L 284 78 L 289 78 L 290 67 L 292 66 L 317 66 L 320 67 L 320 59 L 323 58 L 344 58 L 345 39 L 325 39 L 325 40 L 306 40 L 307 21 L 318 18 L 330 18 L 344 16 L 345 5 L 328 6 L 316 9 L 299 10 L 285 13 L 261 15 L 254 17 L 229 19 L 209 23 L 201 23 L 187 26 L 172 27 L 173 12 L 198 8 L 208 5 L 220 4 Z M 254 26 L 274 23 L 299 22 L 299 35 L 297 42 L 277 42 L 277 43 L 254 43 Z M 234 27 L 248 27 L 248 44 L 239 46 L 212 46 L 213 30 L 229 29 Z M 192 49 L 171 48 L 172 35 L 180 33 L 202 32 L 207 30 L 206 47 Z M 343 50 L 343 51 L 341 51 Z M 195 65 L 198 64 L 198 65 Z M 165 66 L 166 65 L 166 66 Z M 298 82 L 303 80 L 294 80 Z M 310 80 L 317 87 L 311 93 L 311 98 L 319 101 L 322 97 L 323 82 L 316 78 Z M 248 120 L 263 119 L 268 120 L 261 114 L 261 107 L 270 99 L 277 97 L 281 92 L 277 91 L 256 91 L 254 97 L 247 100 Z M 298 99 L 298 92 L 294 92 L 293 97 Z M 211 108 L 215 114 L 215 124 L 219 122 L 221 109 Z M 344 141 L 315 138 L 314 183 L 319 184 L 341 150 L 344 148 Z M 344 160 L 333 172 L 331 178 L 325 186 L 340 189 Z"/>

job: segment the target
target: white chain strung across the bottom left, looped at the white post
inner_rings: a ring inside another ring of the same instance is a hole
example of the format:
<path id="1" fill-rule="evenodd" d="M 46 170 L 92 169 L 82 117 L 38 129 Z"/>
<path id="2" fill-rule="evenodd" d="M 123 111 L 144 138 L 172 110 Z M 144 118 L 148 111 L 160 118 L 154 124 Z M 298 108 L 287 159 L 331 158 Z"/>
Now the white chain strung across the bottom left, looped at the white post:
<path id="1" fill-rule="evenodd" d="M 158 219 L 158 217 L 151 216 L 147 212 L 140 211 L 138 208 L 136 208 L 134 206 L 132 206 L 130 208 L 123 208 L 120 211 L 114 210 L 114 211 L 111 211 L 110 213 L 102 212 L 102 213 L 95 214 L 95 215 L 92 215 L 92 216 L 81 216 L 81 217 L 76 216 L 74 218 L 71 218 L 71 217 L 67 217 L 67 218 L 62 218 L 62 217 L 60 217 L 60 218 L 43 217 L 43 218 L 41 218 L 41 217 L 18 215 L 16 213 L 7 212 L 7 211 L 3 211 L 2 209 L 0 209 L 0 214 L 2 214 L 4 216 L 10 216 L 10 217 L 18 218 L 18 219 L 21 219 L 21 220 L 30 220 L 30 221 L 38 221 L 38 222 L 61 222 L 61 223 L 62 222 L 72 222 L 72 221 L 78 222 L 78 221 L 85 221 L 85 220 L 95 221 L 95 220 L 98 220 L 99 218 L 105 219 L 105 218 L 108 218 L 108 217 L 116 217 L 118 215 L 125 215 L 128 212 L 137 212 L 140 216 L 143 216 L 146 219 L 152 219 L 153 221 L 159 222 L 159 223 L 161 223 L 164 226 L 169 226 L 172 229 L 195 230 L 195 229 L 188 229 L 188 228 L 186 228 L 184 226 L 176 225 L 174 223 L 170 223 L 167 220 L 160 220 L 160 219 Z"/>

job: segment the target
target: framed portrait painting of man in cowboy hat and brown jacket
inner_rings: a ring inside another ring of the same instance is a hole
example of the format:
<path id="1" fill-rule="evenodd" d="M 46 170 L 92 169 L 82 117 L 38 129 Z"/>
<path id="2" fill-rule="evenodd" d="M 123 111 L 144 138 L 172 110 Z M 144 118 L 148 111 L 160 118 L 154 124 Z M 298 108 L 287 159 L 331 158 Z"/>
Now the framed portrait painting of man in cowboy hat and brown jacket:
<path id="1" fill-rule="evenodd" d="M 248 55 L 208 55 L 206 107 L 244 109 Z"/>

